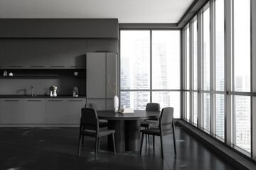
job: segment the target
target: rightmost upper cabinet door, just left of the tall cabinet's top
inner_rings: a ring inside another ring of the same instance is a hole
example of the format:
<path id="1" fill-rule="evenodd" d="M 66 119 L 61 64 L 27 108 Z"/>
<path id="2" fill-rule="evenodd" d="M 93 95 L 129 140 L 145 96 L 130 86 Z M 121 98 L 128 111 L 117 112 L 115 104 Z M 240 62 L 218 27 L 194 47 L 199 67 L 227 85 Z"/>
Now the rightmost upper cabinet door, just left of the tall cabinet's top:
<path id="1" fill-rule="evenodd" d="M 85 69 L 87 40 L 69 40 L 69 50 L 70 56 L 68 67 L 70 69 Z"/>

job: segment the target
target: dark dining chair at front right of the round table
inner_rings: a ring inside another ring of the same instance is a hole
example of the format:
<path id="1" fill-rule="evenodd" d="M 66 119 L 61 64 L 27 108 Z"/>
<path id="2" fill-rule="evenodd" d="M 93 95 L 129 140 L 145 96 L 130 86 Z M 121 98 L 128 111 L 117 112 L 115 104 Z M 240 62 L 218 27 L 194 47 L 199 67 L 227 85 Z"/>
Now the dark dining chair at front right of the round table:
<path id="1" fill-rule="evenodd" d="M 161 158 L 164 159 L 164 146 L 163 146 L 163 137 L 166 135 L 173 134 L 174 137 L 174 152 L 176 154 L 176 141 L 175 141 L 175 126 L 174 126 L 174 108 L 168 107 L 163 108 L 159 118 L 159 127 L 158 128 L 149 128 L 141 130 L 142 132 L 142 141 L 140 147 L 140 154 L 142 154 L 142 145 L 144 134 L 153 135 L 153 149 L 155 145 L 155 136 L 160 137 L 161 141 Z"/>

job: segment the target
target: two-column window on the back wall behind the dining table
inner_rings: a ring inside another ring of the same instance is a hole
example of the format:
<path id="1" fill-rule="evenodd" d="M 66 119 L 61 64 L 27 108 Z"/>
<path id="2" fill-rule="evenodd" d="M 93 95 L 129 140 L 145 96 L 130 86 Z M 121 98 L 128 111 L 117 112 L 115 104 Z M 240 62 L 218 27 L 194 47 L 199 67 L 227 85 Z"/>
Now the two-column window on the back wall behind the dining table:
<path id="1" fill-rule="evenodd" d="M 181 118 L 180 30 L 120 30 L 120 104 L 174 107 Z"/>

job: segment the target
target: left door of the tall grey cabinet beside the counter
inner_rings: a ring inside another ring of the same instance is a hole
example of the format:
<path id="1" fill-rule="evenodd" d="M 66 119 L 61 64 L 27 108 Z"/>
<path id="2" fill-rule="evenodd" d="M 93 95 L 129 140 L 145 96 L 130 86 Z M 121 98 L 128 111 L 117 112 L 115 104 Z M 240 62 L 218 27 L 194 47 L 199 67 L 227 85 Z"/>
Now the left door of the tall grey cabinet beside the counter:
<path id="1" fill-rule="evenodd" d="M 87 53 L 86 87 L 88 98 L 106 97 L 106 53 Z"/>

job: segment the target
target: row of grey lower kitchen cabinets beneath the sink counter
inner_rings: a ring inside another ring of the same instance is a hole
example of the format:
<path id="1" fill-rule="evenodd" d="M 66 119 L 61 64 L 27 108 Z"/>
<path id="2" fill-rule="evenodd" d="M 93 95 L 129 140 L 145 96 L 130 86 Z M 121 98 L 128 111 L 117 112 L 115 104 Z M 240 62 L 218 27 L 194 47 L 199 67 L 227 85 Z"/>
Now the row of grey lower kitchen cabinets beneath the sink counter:
<path id="1" fill-rule="evenodd" d="M 79 125 L 85 98 L 0 98 L 0 125 Z"/>

